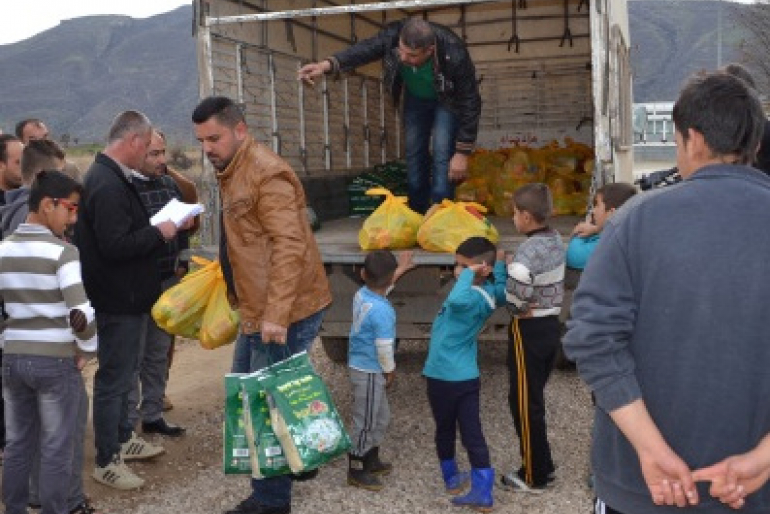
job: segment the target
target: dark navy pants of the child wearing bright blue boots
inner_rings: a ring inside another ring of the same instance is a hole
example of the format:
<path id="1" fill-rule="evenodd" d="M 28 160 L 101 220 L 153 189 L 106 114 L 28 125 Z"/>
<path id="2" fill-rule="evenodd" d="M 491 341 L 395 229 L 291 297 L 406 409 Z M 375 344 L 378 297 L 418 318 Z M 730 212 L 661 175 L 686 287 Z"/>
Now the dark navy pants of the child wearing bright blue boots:
<path id="1" fill-rule="evenodd" d="M 481 430 L 478 378 L 461 382 L 428 379 L 428 402 L 436 422 L 436 453 L 439 460 L 454 459 L 457 428 L 472 468 L 491 467 L 489 448 Z"/>

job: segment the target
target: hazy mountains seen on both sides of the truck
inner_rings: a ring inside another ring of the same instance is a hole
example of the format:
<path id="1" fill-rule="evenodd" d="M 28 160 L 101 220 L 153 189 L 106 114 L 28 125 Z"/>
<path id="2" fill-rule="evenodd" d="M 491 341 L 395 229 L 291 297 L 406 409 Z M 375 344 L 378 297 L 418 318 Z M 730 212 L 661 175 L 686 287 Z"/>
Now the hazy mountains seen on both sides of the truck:
<path id="1" fill-rule="evenodd" d="M 732 9 L 713 0 L 629 0 L 634 101 L 671 101 L 686 77 L 739 59 Z M 0 128 L 42 118 L 55 135 L 103 141 L 113 116 L 138 109 L 173 141 L 191 143 L 198 96 L 192 8 L 146 19 L 88 16 L 0 45 Z"/>

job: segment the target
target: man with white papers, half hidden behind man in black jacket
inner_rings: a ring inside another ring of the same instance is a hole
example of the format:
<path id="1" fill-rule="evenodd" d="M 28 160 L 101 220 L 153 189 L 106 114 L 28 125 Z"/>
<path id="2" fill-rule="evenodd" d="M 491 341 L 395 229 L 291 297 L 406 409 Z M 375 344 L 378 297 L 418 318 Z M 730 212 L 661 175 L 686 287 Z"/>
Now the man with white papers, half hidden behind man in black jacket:
<path id="1" fill-rule="evenodd" d="M 182 192 L 176 182 L 166 175 L 165 170 L 166 141 L 161 132 L 153 130 L 152 140 L 147 149 L 147 158 L 142 167 L 133 172 L 131 183 L 139 192 L 148 214 L 152 216 L 150 218 L 152 223 L 171 219 L 180 228 L 177 236 L 165 245 L 158 257 L 158 271 L 163 291 L 179 283 L 179 278 L 187 272 L 185 264 L 178 261 L 179 252 L 190 247 L 188 230 L 192 226 L 190 214 L 195 210 L 201 210 L 199 204 L 193 206 L 179 201 L 182 199 Z M 171 212 L 172 209 L 167 208 L 170 204 L 180 208 Z M 199 207 L 199 209 L 193 209 L 193 207 Z M 165 215 L 164 211 L 166 211 Z M 177 212 L 180 213 L 178 216 Z M 144 433 L 179 437 L 185 432 L 184 428 L 167 423 L 163 418 L 169 349 L 173 341 L 172 334 L 165 332 L 158 327 L 155 320 L 150 319 L 144 345 L 139 348 L 138 377 L 133 381 L 131 394 L 128 397 L 128 421 L 135 427 L 141 414 Z"/>

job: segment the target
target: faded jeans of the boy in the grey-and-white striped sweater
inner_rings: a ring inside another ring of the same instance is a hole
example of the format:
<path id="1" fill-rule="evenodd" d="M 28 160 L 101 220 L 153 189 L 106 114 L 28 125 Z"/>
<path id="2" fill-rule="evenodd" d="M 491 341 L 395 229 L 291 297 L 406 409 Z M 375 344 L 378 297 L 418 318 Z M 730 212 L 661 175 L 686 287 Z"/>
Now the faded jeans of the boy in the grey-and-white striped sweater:
<path id="1" fill-rule="evenodd" d="M 5 354 L 6 447 L 3 503 L 7 514 L 26 514 L 31 456 L 40 448 L 42 514 L 69 512 L 80 371 L 73 357 Z"/>

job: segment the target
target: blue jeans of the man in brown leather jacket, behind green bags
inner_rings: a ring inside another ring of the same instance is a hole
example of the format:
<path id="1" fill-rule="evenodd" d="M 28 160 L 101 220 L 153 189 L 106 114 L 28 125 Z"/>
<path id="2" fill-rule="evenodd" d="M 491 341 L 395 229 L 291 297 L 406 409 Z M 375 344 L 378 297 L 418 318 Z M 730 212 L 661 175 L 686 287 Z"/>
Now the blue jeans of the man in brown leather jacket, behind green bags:
<path id="1" fill-rule="evenodd" d="M 233 373 L 253 373 L 270 364 L 310 349 L 321 328 L 323 311 L 289 325 L 286 344 L 263 343 L 259 333 L 240 334 L 233 351 Z M 280 507 L 291 503 L 291 476 L 251 480 L 251 496 L 262 505 Z"/>

